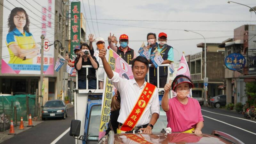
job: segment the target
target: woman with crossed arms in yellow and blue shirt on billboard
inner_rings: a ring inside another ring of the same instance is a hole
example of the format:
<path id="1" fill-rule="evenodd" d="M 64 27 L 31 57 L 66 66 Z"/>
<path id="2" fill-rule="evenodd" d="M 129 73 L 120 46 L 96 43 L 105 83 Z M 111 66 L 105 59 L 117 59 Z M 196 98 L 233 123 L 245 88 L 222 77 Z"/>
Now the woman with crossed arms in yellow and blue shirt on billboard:
<path id="1" fill-rule="evenodd" d="M 33 58 L 39 54 L 40 45 L 29 33 L 27 12 L 20 7 L 12 9 L 8 18 L 9 33 L 6 36 L 6 46 L 10 53 L 9 64 L 33 64 Z M 31 51 L 35 49 L 34 51 Z"/>

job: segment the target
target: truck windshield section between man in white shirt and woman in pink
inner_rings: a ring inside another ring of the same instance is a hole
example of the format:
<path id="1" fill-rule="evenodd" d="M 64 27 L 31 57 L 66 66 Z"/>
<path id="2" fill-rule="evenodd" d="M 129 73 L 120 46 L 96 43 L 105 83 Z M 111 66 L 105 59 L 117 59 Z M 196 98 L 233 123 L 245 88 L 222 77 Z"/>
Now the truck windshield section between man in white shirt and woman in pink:
<path id="1" fill-rule="evenodd" d="M 160 116 L 154 125 L 152 132 L 161 132 L 162 129 L 165 129 L 167 126 L 167 117 L 166 113 L 160 105 Z"/>

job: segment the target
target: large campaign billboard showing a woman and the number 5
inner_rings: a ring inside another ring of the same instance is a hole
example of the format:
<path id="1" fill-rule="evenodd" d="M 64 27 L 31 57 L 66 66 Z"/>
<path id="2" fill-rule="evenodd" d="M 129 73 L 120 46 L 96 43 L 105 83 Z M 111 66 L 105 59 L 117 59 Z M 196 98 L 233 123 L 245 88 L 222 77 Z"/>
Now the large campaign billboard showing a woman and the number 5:
<path id="1" fill-rule="evenodd" d="M 2 74 L 54 74 L 55 1 L 4 0 Z M 44 58 L 41 61 L 41 35 Z"/>

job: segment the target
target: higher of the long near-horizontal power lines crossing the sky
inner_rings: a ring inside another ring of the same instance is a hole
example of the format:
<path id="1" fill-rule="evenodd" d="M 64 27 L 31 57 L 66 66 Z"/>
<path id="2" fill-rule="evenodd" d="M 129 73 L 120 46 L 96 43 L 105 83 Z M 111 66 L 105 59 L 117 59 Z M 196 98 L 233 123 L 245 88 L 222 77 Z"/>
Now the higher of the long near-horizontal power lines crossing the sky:
<path id="1" fill-rule="evenodd" d="M 256 20 L 120 20 L 120 19 L 88 19 L 88 20 L 148 21 L 148 22 L 254 22 L 256 21 Z"/>

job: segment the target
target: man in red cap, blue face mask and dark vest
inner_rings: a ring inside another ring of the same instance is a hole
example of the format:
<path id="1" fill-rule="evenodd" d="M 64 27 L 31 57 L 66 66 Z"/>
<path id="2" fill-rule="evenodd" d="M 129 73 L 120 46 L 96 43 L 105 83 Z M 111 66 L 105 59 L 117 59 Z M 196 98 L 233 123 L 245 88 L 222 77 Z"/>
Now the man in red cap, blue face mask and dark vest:
<path id="1" fill-rule="evenodd" d="M 113 34 L 114 36 L 114 34 Z M 108 39 L 112 39 L 111 33 Z M 117 48 L 112 42 L 108 42 L 110 48 L 115 51 L 124 61 L 126 61 L 128 64 L 132 63 L 132 60 L 136 58 L 136 53 L 133 49 L 131 49 L 129 44 L 129 37 L 125 34 L 121 35 L 119 37 L 119 44 L 120 46 Z"/>

